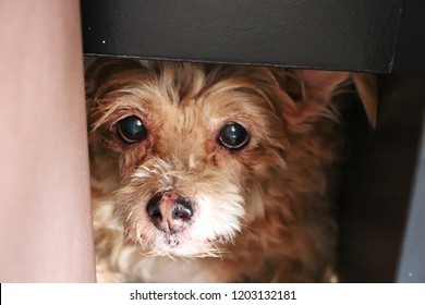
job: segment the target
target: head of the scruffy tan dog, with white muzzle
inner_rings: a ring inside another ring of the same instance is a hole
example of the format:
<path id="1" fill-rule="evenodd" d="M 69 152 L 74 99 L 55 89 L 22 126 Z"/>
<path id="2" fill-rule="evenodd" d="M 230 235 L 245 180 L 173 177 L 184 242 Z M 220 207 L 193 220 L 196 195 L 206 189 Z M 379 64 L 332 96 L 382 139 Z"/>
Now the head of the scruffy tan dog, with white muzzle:
<path id="1" fill-rule="evenodd" d="M 92 175 L 113 192 L 127 239 L 155 254 L 214 256 L 264 217 L 264 192 L 286 169 L 292 141 L 329 114 L 329 93 L 309 96 L 302 77 L 271 68 L 90 62 Z"/>

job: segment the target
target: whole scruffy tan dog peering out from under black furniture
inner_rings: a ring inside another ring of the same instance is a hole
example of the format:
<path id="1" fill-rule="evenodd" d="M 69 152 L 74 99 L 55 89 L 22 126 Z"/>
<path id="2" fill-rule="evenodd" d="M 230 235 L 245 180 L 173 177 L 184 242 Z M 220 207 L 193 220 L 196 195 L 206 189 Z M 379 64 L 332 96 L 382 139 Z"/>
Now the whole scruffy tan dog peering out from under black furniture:
<path id="1" fill-rule="evenodd" d="M 347 77 L 87 59 L 98 281 L 333 281 Z"/>

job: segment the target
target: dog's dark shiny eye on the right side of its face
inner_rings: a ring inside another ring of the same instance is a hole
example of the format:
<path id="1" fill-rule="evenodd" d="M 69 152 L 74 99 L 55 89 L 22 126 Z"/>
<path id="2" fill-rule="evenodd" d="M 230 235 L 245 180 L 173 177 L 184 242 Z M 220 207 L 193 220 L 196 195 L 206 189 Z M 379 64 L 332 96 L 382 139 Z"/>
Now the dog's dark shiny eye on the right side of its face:
<path id="1" fill-rule="evenodd" d="M 241 124 L 232 122 L 220 130 L 217 141 L 230 150 L 239 150 L 248 144 L 250 133 Z"/>

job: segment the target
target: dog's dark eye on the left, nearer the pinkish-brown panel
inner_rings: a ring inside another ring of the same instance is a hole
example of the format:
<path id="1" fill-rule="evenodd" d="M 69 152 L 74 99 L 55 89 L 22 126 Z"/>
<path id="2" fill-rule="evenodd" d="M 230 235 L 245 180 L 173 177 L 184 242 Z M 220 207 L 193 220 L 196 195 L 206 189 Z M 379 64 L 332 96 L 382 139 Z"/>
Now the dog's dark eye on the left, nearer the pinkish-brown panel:
<path id="1" fill-rule="evenodd" d="M 125 144 L 133 144 L 146 138 L 147 130 L 136 115 L 126 117 L 117 123 L 117 132 Z"/>

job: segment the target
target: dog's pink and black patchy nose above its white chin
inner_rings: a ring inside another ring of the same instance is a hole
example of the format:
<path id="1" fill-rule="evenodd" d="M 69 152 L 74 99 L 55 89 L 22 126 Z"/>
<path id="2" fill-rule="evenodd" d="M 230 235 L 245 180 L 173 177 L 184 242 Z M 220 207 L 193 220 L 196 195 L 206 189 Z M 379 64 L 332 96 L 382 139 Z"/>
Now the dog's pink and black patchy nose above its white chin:
<path id="1" fill-rule="evenodd" d="M 183 196 L 165 193 L 151 197 L 146 211 L 155 227 L 174 233 L 193 223 L 194 205 Z"/>

